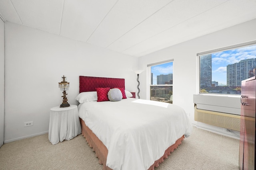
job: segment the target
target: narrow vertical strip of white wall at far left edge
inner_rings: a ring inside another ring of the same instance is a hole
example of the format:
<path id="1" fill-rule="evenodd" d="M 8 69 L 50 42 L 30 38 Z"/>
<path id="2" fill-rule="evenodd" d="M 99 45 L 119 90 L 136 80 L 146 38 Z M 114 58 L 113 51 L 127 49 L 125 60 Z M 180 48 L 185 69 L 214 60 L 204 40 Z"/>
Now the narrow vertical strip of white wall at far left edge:
<path id="1" fill-rule="evenodd" d="M 4 143 L 4 22 L 0 19 L 0 147 Z"/>

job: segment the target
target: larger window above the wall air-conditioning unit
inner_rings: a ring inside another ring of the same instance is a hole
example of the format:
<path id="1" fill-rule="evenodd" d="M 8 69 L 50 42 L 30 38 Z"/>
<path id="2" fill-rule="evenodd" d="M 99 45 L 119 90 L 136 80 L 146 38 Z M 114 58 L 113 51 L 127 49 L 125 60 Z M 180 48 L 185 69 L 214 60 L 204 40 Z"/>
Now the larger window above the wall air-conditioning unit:
<path id="1" fill-rule="evenodd" d="M 241 94 L 241 81 L 256 76 L 256 41 L 197 54 L 200 93 Z"/>

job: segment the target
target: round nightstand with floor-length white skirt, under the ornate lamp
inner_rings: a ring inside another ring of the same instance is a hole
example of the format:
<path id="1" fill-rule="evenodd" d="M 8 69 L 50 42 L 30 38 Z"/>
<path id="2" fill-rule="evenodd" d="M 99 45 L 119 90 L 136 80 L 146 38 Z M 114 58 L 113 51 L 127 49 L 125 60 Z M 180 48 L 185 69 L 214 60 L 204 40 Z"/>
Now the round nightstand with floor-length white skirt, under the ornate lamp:
<path id="1" fill-rule="evenodd" d="M 70 140 L 81 133 L 78 107 L 52 107 L 50 109 L 49 141 L 55 145 Z"/>

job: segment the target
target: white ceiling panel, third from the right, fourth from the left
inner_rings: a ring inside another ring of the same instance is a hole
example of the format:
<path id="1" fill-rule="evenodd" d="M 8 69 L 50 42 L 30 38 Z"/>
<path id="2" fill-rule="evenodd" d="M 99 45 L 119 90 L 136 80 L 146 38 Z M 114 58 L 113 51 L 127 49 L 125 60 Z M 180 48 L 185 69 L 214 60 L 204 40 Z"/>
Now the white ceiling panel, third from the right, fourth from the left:
<path id="1" fill-rule="evenodd" d="M 107 47 L 170 2 L 171 0 L 119 0 L 87 42 Z"/>

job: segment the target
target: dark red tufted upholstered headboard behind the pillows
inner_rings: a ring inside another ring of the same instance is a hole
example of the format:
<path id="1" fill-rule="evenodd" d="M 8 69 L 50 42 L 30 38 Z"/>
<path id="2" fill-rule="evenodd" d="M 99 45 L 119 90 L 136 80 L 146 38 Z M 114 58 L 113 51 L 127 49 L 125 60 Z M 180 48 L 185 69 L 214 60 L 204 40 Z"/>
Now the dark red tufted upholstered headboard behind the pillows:
<path id="1" fill-rule="evenodd" d="M 96 87 L 124 87 L 124 78 L 79 76 L 79 93 L 96 91 Z"/>

